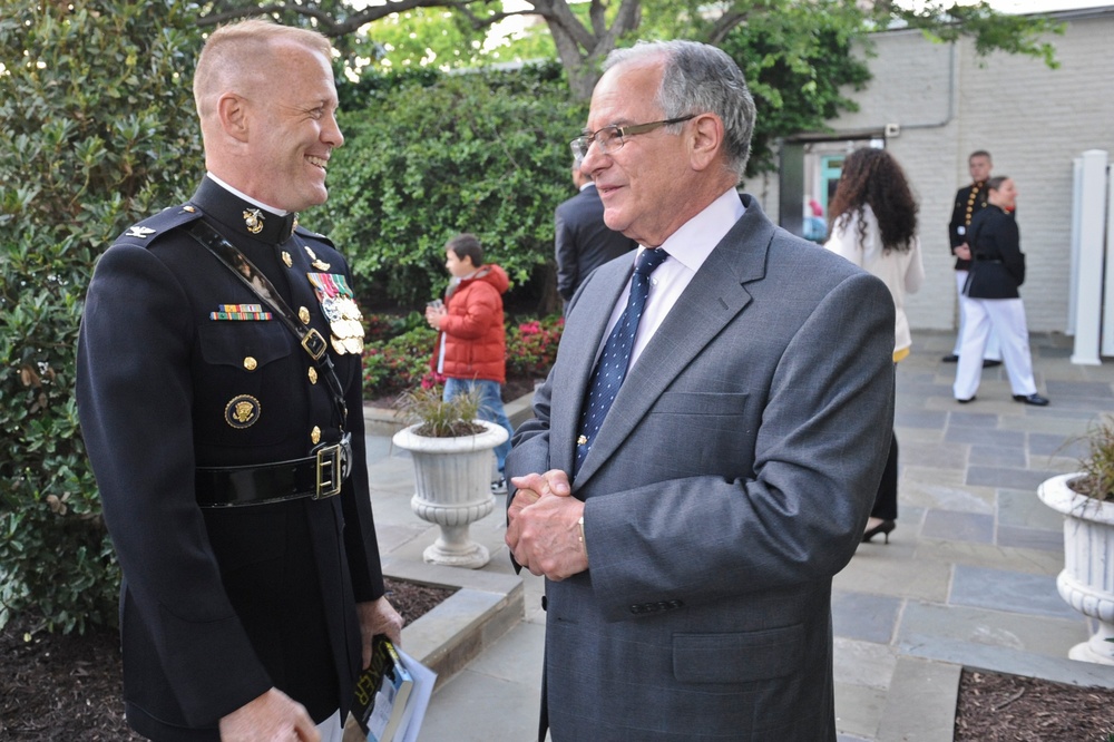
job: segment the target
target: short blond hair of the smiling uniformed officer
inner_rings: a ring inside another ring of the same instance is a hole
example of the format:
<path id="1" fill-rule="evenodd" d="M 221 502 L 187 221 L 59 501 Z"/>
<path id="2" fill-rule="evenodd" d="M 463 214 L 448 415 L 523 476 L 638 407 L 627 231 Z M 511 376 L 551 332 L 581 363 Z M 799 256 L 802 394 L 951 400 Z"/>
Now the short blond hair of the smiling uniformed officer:
<path id="1" fill-rule="evenodd" d="M 194 104 L 198 116 L 209 113 L 207 101 L 232 87 L 267 85 L 266 74 L 273 69 L 275 55 L 282 45 L 296 45 L 332 59 L 333 47 L 329 39 L 305 28 L 251 19 L 213 31 L 194 70 Z"/>

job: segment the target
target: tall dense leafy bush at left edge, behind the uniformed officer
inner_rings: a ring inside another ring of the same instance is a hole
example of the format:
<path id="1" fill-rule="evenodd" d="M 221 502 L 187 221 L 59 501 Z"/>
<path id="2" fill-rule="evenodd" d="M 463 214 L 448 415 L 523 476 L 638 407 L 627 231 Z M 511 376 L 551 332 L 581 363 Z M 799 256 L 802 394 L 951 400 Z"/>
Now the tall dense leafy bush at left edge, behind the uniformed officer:
<path id="1" fill-rule="evenodd" d="M 96 256 L 202 167 L 195 10 L 10 0 L 0 14 L 0 625 L 30 607 L 51 629 L 116 622 L 77 332 Z"/>

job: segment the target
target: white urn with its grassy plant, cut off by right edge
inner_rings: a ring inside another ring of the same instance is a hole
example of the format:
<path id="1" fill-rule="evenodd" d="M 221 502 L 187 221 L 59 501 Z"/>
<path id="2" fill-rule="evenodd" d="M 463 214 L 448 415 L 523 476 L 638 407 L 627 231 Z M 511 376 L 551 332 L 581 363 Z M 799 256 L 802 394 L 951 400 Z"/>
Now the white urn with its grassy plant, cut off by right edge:
<path id="1" fill-rule="evenodd" d="M 1098 631 L 1068 652 L 1072 660 L 1114 665 L 1114 418 L 1104 417 L 1083 437 L 1079 471 L 1053 477 L 1037 489 L 1064 515 L 1061 597 L 1094 618 Z"/>

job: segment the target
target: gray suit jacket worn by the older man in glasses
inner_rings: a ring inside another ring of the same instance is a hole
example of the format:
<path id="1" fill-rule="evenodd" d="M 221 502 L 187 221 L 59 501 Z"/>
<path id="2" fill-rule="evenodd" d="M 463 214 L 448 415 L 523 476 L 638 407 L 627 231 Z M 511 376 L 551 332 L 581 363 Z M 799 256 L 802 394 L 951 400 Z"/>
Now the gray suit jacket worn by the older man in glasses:
<path id="1" fill-rule="evenodd" d="M 889 446 L 893 302 L 743 203 L 574 484 L 589 568 L 546 584 L 555 742 L 836 739 L 831 578 L 859 544 Z M 569 307 L 508 476 L 571 470 L 631 270 L 628 257 L 602 266 Z"/>

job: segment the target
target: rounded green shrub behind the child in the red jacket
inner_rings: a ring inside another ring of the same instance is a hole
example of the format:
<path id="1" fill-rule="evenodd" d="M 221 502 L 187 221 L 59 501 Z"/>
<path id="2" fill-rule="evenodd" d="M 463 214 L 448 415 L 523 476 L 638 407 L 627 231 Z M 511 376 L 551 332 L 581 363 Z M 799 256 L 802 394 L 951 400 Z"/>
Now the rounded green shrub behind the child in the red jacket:
<path id="1" fill-rule="evenodd" d="M 553 262 L 554 208 L 574 194 L 568 141 L 586 119 L 559 67 L 369 74 L 341 98 L 346 144 L 315 228 L 350 257 L 359 294 L 412 309 L 440 295 L 460 232 L 512 284 Z"/>

